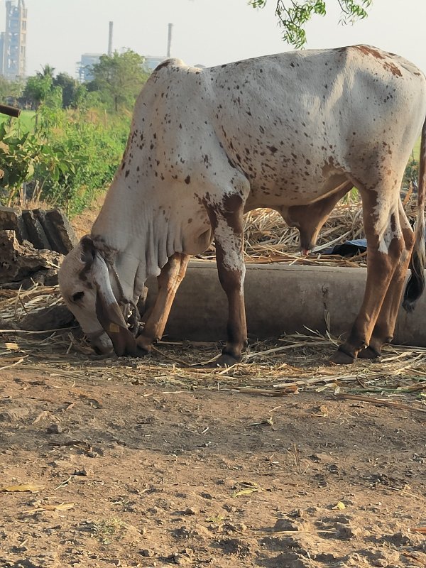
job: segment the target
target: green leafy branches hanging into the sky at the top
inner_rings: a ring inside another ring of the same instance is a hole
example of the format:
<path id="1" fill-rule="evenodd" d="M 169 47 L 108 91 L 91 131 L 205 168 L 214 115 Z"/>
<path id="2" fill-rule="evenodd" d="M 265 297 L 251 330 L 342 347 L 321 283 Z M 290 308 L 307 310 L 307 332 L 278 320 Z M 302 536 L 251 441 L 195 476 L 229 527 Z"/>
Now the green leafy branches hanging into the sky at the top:
<path id="1" fill-rule="evenodd" d="M 263 8 L 268 0 L 249 0 L 253 8 Z M 283 40 L 295 48 L 306 43 L 305 24 L 314 14 L 324 16 L 327 0 L 275 0 L 275 15 L 283 28 Z M 341 9 L 341 23 L 353 23 L 366 18 L 373 0 L 337 0 Z"/>

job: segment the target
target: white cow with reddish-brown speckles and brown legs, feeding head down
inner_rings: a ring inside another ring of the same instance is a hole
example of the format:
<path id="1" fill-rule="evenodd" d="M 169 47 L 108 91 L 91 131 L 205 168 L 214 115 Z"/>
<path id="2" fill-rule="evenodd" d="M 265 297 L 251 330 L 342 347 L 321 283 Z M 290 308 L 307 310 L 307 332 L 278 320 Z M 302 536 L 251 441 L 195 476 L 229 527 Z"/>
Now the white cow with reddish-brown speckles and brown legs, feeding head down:
<path id="1" fill-rule="evenodd" d="M 409 263 L 408 310 L 424 285 L 425 117 L 425 75 L 368 45 L 204 69 L 166 60 L 136 101 L 121 165 L 90 235 L 62 263 L 66 305 L 98 353 L 146 354 L 162 337 L 190 256 L 214 239 L 229 304 L 228 337 L 214 365 L 235 364 L 247 341 L 244 213 L 277 210 L 309 250 L 355 186 L 368 275 L 359 314 L 332 361 L 380 356 L 393 337 Z M 400 185 L 420 132 L 413 234 Z M 142 327 L 136 304 L 152 276 L 158 296 Z"/>

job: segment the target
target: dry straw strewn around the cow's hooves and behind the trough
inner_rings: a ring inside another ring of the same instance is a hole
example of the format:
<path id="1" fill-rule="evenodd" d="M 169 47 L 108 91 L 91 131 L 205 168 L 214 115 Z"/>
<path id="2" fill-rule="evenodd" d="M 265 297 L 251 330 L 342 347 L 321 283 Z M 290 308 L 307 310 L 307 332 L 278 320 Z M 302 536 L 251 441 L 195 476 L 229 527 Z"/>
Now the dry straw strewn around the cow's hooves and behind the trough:
<path id="1" fill-rule="evenodd" d="M 408 204 L 409 209 L 414 206 Z M 359 204 L 337 207 L 325 224 L 319 246 L 363 235 Z M 246 217 L 246 261 L 365 266 L 366 256 L 345 259 L 317 252 L 300 256 L 298 236 L 278 213 L 268 209 Z M 213 256 L 207 252 L 204 258 Z M 426 410 L 426 349 L 388 346 L 381 362 L 358 361 L 354 366 L 329 366 L 339 339 L 308 330 L 271 342 L 252 342 L 241 363 L 225 369 L 196 366 L 217 355 L 219 344 L 160 342 L 145 359 L 93 359 L 78 327 L 31 332 L 10 329 L 35 310 L 61 303 L 57 286 L 33 285 L 30 290 L 0 290 L 0 371 L 25 368 L 44 376 L 61 376 L 72 383 L 114 380 L 161 388 L 163 393 L 187 389 L 228 390 L 265 396 L 295 395 L 300 391 L 329 393 L 354 404 L 392 406 L 424 419 Z M 166 338 L 167 339 L 167 338 Z M 1 379 L 0 382 L 4 380 Z M 355 398 L 354 398 L 355 397 Z M 358 397 L 358 398 L 356 398 Z M 409 406 L 407 406 L 409 402 Z M 389 404 L 391 403 L 391 404 Z"/>

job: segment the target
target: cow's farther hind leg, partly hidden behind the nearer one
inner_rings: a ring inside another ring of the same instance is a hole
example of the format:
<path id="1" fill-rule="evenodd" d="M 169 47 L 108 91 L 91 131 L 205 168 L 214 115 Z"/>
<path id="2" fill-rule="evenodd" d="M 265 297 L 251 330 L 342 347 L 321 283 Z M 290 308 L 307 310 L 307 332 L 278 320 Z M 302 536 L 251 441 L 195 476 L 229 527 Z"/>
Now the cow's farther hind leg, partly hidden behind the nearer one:
<path id="1" fill-rule="evenodd" d="M 362 359 L 376 359 L 376 357 L 381 355 L 383 344 L 389 343 L 393 339 L 393 330 L 395 329 L 405 276 L 407 275 L 408 263 L 414 244 L 414 233 L 401 202 L 399 202 L 398 205 L 398 212 L 400 229 L 403 236 L 403 251 L 400 261 L 395 267 L 391 284 L 389 285 L 388 292 L 386 293 L 380 314 L 378 315 L 376 325 L 373 329 L 373 334 L 371 335 L 370 343 L 366 349 L 359 351 L 358 356 Z"/>

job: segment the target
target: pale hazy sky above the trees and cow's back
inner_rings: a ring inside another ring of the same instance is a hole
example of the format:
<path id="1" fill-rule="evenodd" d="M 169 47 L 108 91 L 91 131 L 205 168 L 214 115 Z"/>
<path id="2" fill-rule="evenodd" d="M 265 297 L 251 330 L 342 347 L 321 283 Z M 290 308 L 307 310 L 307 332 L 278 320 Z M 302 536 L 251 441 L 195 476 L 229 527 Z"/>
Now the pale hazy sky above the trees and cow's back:
<path id="1" fill-rule="evenodd" d="M 337 0 L 307 26 L 308 48 L 368 43 L 404 55 L 426 72 L 426 1 L 373 0 L 370 15 L 339 26 Z M 189 65 L 219 65 L 289 50 L 280 39 L 274 0 L 254 10 L 246 0 L 26 0 L 27 75 L 46 63 L 75 76 L 82 53 L 105 53 L 109 21 L 113 47 L 141 55 L 165 55 L 173 23 L 172 55 Z M 4 30 L 0 0 L 0 30 Z"/>

